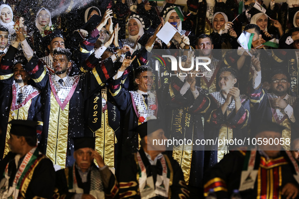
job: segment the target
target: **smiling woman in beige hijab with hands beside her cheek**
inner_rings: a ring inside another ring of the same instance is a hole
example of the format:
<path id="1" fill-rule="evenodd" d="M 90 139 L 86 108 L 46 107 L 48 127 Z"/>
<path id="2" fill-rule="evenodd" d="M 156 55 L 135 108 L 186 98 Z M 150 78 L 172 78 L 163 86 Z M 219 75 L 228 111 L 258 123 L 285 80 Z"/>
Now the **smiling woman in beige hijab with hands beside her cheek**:
<path id="1" fill-rule="evenodd" d="M 214 49 L 235 49 L 238 47 L 237 33 L 232 27 L 233 23 L 228 21 L 225 13 L 217 12 L 213 15 L 213 32 L 210 34 Z"/>

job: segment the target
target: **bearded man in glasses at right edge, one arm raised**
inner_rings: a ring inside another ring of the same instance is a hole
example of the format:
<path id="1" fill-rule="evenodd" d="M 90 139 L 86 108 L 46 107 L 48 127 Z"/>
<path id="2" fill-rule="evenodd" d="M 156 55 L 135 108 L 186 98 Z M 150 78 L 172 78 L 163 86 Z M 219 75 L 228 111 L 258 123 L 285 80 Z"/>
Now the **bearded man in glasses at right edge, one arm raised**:
<path id="1" fill-rule="evenodd" d="M 264 90 L 261 85 L 262 72 L 261 64 L 257 58 L 252 59 L 257 76 L 252 79 L 250 102 L 254 106 L 255 115 L 252 123 L 258 125 L 262 119 L 276 122 L 285 129 L 282 137 L 285 141 L 296 138 L 295 134 L 299 129 L 298 98 L 290 96 L 287 91 L 290 84 L 288 73 L 276 70 L 270 75 L 270 91 Z M 284 144 L 285 150 L 290 150 L 289 144 Z"/>

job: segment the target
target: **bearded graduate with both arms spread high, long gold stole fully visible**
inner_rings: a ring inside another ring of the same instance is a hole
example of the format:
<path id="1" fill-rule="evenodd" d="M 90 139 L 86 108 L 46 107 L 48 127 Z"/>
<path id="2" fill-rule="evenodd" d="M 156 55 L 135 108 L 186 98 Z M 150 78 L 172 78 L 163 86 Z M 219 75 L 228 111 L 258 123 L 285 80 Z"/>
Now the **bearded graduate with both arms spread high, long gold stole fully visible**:
<path id="1" fill-rule="evenodd" d="M 55 74 L 48 74 L 35 56 L 25 66 L 36 85 L 44 90 L 44 133 L 41 137 L 41 150 L 55 165 L 62 168 L 74 163 L 73 141 L 70 138 L 84 135 L 84 100 L 102 88 L 116 73 L 117 69 L 107 67 L 113 66 L 111 60 L 99 64 L 99 59 L 112 43 L 113 36 L 88 60 L 93 69 L 84 76 L 67 74 L 67 68 L 71 66 L 71 53 L 66 48 L 54 50 Z"/>

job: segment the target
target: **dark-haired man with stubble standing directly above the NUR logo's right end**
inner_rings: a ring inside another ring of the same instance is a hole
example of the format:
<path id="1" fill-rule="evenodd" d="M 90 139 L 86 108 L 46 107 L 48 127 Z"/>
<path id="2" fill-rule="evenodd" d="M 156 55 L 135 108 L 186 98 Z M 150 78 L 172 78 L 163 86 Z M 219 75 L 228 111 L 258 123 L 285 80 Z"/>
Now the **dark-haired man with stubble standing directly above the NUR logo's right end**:
<path id="1" fill-rule="evenodd" d="M 203 73 L 204 76 L 200 77 L 200 79 L 197 82 L 199 82 L 198 86 L 204 89 L 206 94 L 216 92 L 216 77 L 219 69 L 221 68 L 221 62 L 219 62 L 219 60 L 213 58 L 212 56 L 213 47 L 213 41 L 209 35 L 199 35 L 199 37 L 197 38 L 195 48 L 200 49 L 199 56 L 208 57 L 211 60 L 211 63 L 207 65 L 207 67 L 211 71 L 208 71 L 204 66 L 199 65 L 199 72 Z M 199 62 L 207 62 L 207 60 L 199 60 Z"/>

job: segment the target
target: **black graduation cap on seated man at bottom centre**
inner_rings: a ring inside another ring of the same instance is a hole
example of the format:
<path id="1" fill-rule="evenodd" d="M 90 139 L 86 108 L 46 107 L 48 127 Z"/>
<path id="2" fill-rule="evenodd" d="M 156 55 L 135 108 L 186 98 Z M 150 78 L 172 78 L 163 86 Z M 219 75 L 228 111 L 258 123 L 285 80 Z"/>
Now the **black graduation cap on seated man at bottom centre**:
<path id="1" fill-rule="evenodd" d="M 158 129 L 164 130 L 164 125 L 160 122 L 160 120 L 148 120 L 147 122 L 139 125 L 133 131 L 139 133 L 140 137 L 143 138 L 146 135 L 150 135 Z"/>

